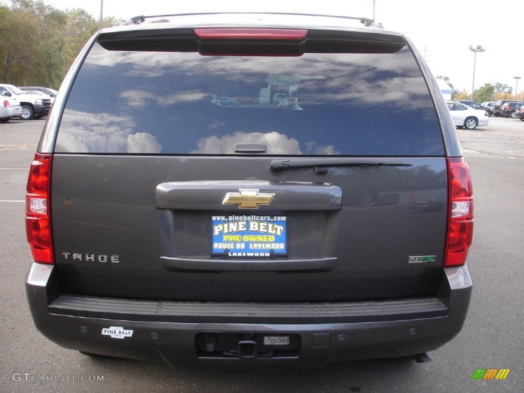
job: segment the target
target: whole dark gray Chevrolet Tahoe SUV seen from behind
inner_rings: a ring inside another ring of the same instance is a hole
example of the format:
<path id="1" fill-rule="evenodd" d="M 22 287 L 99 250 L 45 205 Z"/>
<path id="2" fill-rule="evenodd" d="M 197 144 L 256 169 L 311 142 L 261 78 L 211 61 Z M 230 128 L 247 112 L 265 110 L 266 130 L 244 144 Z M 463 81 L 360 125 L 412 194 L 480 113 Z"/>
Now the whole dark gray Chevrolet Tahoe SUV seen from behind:
<path id="1" fill-rule="evenodd" d="M 359 18 L 134 20 L 79 54 L 31 163 L 43 335 L 263 369 L 425 361 L 460 332 L 470 174 L 406 37 Z"/>

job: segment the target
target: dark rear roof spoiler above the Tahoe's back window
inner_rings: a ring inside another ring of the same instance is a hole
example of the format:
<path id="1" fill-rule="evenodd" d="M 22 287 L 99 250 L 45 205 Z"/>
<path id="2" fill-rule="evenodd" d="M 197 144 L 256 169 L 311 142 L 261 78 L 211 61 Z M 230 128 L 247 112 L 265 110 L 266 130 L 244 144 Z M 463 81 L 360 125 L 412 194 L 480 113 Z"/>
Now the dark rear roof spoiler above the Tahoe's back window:
<path id="1" fill-rule="evenodd" d="M 301 39 L 282 39 L 267 35 L 239 37 L 233 34 L 230 37 L 216 35 L 216 38 L 212 38 L 212 34 L 202 36 L 197 33 L 197 30 L 204 29 L 209 32 L 213 28 L 207 26 L 150 28 L 148 26 L 147 29 L 102 30 L 96 41 L 106 50 L 182 51 L 241 56 L 301 56 L 303 53 L 396 53 L 406 46 L 406 40 L 401 35 L 383 31 L 363 31 L 362 29 L 306 29 L 306 34 Z M 217 29 L 224 30 L 224 27 Z M 249 29 L 269 30 L 270 28 L 227 27 L 226 29 L 245 31 Z M 268 44 L 271 44 L 271 48 L 268 48 Z"/>

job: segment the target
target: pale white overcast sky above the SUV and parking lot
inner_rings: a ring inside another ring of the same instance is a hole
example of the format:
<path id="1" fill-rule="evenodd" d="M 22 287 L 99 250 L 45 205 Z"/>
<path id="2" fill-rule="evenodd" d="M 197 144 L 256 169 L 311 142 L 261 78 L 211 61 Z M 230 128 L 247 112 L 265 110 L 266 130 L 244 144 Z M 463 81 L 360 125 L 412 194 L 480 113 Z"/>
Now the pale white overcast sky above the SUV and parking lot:
<path id="1" fill-rule="evenodd" d="M 471 93 L 475 54 L 475 89 L 485 83 L 502 83 L 524 90 L 524 52 L 521 49 L 521 13 L 496 1 L 478 0 L 43 0 L 58 9 L 82 8 L 94 18 L 103 15 L 128 19 L 138 15 L 191 12 L 295 12 L 324 15 L 366 16 L 387 30 L 406 35 L 424 55 L 436 76 L 443 75 L 457 90 Z M 102 2 L 102 3 L 101 3 Z M 516 3 L 511 3 L 516 4 Z M 518 83 L 518 82 L 517 82 Z"/>

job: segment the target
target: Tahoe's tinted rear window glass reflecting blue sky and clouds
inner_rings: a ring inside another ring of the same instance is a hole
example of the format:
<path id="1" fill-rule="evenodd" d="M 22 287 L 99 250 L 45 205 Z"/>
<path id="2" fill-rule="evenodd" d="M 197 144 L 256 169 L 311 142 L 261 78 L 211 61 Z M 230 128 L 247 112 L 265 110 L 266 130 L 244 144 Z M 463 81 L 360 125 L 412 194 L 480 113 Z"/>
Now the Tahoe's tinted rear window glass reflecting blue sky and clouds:
<path id="1" fill-rule="evenodd" d="M 444 154 L 428 87 L 407 47 L 250 57 L 107 51 L 97 43 L 75 79 L 55 151 Z"/>

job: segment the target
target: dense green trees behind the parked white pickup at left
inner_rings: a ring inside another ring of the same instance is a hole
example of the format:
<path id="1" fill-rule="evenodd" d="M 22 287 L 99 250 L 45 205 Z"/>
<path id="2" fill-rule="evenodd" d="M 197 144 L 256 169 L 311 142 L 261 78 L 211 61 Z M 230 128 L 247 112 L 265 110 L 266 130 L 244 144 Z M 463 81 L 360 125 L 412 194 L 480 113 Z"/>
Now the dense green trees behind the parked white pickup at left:
<path id="1" fill-rule="evenodd" d="M 116 24 L 113 17 L 104 19 L 104 26 Z M 58 88 L 98 28 L 83 9 L 61 11 L 42 0 L 0 3 L 0 82 Z"/>

